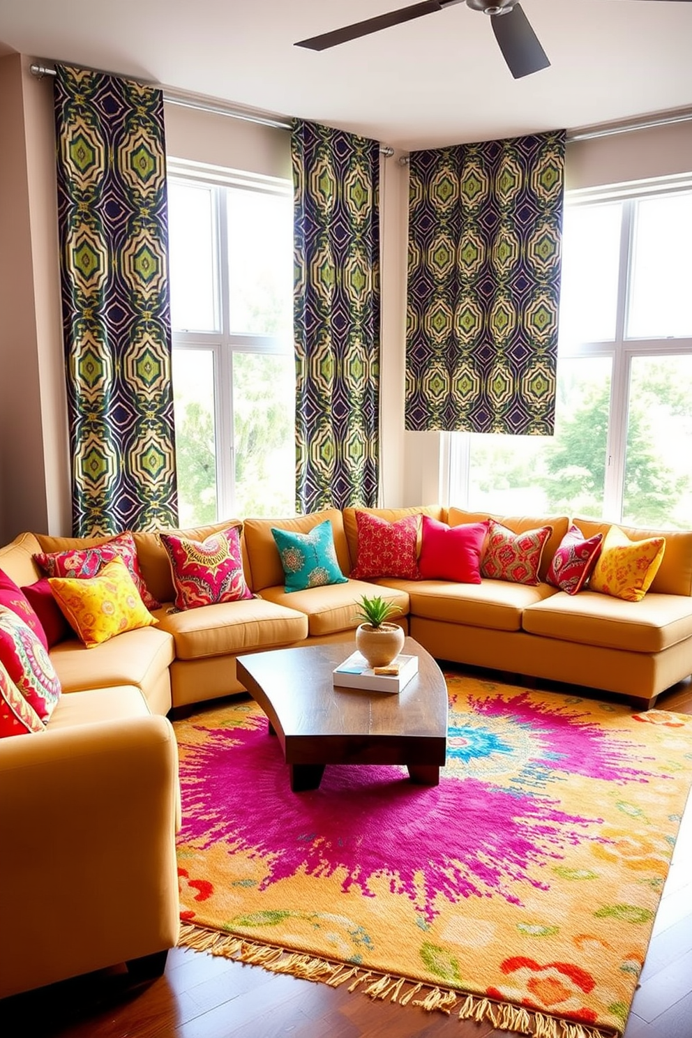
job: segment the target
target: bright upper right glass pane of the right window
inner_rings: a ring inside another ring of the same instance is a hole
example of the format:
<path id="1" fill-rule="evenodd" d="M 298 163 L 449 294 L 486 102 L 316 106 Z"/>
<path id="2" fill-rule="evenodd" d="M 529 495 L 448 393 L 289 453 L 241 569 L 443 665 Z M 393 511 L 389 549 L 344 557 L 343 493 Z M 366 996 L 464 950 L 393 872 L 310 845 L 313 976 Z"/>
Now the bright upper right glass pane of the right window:
<path id="1" fill-rule="evenodd" d="M 637 202 L 627 333 L 692 335 L 692 194 Z"/>

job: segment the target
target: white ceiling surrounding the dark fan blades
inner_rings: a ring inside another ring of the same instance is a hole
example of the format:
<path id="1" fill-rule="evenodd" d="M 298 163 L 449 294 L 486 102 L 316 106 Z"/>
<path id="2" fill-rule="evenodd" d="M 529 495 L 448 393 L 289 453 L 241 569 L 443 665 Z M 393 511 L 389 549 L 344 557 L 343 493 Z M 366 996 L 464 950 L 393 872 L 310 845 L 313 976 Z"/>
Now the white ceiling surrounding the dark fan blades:
<path id="1" fill-rule="evenodd" d="M 322 53 L 293 46 L 406 2 L 0 0 L 0 52 L 4 44 L 407 151 L 692 104 L 692 2 L 522 0 L 551 67 L 521 80 L 488 18 L 463 3 Z"/>

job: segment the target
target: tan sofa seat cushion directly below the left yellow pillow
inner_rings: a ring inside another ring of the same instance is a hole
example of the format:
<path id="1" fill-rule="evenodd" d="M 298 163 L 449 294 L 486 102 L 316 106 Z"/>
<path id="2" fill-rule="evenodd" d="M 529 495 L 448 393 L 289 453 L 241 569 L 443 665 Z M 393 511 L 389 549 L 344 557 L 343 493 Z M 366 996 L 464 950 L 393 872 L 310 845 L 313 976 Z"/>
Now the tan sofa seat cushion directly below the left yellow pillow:
<path id="1" fill-rule="evenodd" d="M 124 631 L 87 649 L 77 638 L 51 649 L 51 660 L 63 692 L 112 685 L 136 685 L 144 693 L 174 658 L 173 639 L 159 627 Z"/>

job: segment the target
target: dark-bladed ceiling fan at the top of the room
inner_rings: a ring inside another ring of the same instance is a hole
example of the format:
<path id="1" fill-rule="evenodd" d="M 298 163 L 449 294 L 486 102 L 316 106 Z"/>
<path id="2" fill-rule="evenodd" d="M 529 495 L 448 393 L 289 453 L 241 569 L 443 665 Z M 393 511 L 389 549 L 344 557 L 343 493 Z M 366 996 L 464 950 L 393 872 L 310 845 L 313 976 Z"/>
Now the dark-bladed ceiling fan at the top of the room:
<path id="1" fill-rule="evenodd" d="M 538 43 L 538 37 L 529 25 L 526 15 L 518 0 L 422 0 L 421 3 L 390 10 L 377 18 L 368 18 L 364 22 L 347 25 L 343 29 L 325 32 L 310 39 L 301 39 L 296 47 L 306 47 L 311 51 L 325 51 L 337 44 L 344 44 L 359 36 L 368 36 L 371 32 L 388 29 L 392 25 L 410 22 L 423 15 L 451 7 L 452 4 L 464 3 L 473 10 L 481 10 L 490 16 L 491 25 L 502 56 L 515 79 L 530 76 L 541 69 L 547 69 L 550 61 Z M 687 0 L 680 0 L 687 2 Z"/>

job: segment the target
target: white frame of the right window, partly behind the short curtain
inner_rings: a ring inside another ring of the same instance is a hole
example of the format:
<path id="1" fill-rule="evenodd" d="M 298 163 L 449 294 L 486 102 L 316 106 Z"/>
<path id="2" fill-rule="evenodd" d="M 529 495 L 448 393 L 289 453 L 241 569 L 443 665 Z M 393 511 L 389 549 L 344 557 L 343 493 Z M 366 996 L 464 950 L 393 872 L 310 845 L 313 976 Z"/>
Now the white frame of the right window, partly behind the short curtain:
<path id="1" fill-rule="evenodd" d="M 627 338 L 625 335 L 632 273 L 635 209 L 639 199 L 692 191 L 692 175 L 674 174 L 656 181 L 639 181 L 603 188 L 565 192 L 565 208 L 593 206 L 598 202 L 622 203 L 620 250 L 617 281 L 617 310 L 614 338 L 603 343 L 560 346 L 559 359 L 609 357 L 611 359 L 610 414 L 608 418 L 607 458 L 603 515 L 609 522 L 620 522 L 628 434 L 628 400 L 632 360 L 637 356 L 673 356 L 692 354 L 692 337 Z M 441 458 L 445 459 L 440 481 L 440 500 L 474 508 L 469 499 L 471 441 L 468 433 L 442 433 Z"/>

